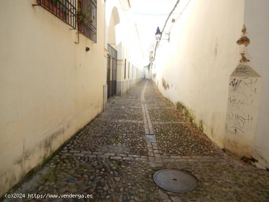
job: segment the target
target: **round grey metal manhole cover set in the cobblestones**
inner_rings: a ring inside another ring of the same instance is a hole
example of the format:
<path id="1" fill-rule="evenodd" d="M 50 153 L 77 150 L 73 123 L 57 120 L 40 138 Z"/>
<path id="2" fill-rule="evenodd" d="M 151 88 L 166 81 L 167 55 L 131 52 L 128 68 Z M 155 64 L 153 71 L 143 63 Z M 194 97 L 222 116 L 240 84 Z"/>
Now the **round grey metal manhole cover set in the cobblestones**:
<path id="1" fill-rule="evenodd" d="M 159 170 L 153 178 L 159 187 L 175 193 L 191 192 L 197 186 L 192 175 L 175 169 Z"/>

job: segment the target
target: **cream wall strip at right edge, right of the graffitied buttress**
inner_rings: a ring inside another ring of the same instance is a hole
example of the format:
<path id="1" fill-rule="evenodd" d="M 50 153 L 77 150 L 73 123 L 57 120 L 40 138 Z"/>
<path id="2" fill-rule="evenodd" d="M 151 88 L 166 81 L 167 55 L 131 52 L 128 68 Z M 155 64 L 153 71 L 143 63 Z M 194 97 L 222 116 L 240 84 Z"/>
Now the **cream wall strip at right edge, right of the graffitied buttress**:
<path id="1" fill-rule="evenodd" d="M 269 168 L 269 1 L 246 0 L 245 24 L 250 44 L 249 65 L 261 75 L 262 93 L 252 156 Z"/>

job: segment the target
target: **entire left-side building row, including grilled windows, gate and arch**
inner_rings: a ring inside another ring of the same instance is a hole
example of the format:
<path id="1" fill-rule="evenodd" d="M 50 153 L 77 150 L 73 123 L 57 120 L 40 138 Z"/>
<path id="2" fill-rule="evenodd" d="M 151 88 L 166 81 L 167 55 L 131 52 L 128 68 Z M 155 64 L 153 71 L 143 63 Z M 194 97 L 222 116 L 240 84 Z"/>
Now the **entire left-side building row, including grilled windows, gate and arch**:
<path id="1" fill-rule="evenodd" d="M 102 112 L 107 97 L 141 79 L 130 7 L 128 0 L 0 1 L 0 195 Z"/>

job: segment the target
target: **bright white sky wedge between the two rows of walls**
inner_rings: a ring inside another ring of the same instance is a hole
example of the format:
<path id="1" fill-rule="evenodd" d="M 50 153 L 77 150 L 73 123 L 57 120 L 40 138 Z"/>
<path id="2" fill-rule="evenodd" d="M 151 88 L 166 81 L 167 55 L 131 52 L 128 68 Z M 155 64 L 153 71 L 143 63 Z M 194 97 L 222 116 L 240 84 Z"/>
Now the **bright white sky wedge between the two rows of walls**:
<path id="1" fill-rule="evenodd" d="M 144 51 L 149 52 L 154 48 L 157 26 L 162 30 L 176 2 L 177 0 L 130 0 Z"/>

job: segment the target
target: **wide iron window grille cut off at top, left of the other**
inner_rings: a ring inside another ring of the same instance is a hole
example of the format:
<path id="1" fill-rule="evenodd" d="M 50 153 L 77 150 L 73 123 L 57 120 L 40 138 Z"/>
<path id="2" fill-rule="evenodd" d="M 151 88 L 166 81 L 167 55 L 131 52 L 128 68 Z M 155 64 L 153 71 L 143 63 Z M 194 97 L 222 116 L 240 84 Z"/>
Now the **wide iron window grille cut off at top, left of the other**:
<path id="1" fill-rule="evenodd" d="M 76 28 L 76 0 L 37 0 L 36 5 L 44 7 L 55 16 Z"/>

